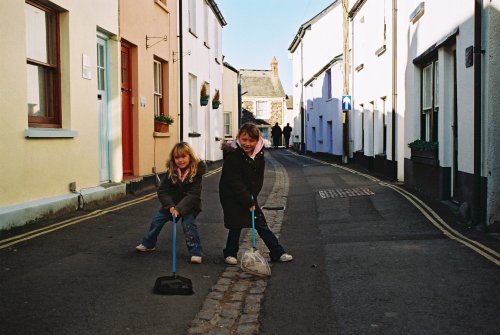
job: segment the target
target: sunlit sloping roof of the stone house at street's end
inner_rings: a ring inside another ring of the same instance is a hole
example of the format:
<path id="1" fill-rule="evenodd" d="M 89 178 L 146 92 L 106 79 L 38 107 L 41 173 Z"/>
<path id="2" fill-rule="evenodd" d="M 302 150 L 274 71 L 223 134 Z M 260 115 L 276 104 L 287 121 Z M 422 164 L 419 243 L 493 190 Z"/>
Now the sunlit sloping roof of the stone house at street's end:
<path id="1" fill-rule="evenodd" d="M 241 90 L 251 97 L 285 97 L 279 77 L 272 70 L 240 70 Z"/>

